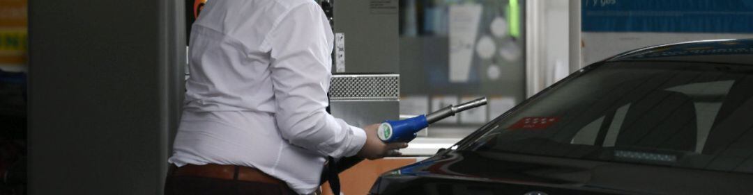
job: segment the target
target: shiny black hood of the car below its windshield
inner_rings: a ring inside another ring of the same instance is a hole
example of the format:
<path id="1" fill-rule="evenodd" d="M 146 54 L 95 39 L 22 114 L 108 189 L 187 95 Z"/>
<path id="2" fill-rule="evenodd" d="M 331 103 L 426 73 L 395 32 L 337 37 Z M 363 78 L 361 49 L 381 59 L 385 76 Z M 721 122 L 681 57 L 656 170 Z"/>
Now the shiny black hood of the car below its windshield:
<path id="1" fill-rule="evenodd" d="M 377 179 L 371 194 L 753 194 L 753 175 L 525 154 L 444 151 Z"/>

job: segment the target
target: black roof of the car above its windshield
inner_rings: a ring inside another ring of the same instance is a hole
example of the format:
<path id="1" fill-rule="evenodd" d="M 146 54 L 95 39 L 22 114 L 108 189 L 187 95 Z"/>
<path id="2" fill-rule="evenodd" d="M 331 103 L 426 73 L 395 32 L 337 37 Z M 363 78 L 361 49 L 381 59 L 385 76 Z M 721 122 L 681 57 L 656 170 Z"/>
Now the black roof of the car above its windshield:
<path id="1" fill-rule="evenodd" d="M 753 65 L 753 39 L 697 40 L 648 46 L 604 62 L 672 61 Z"/>

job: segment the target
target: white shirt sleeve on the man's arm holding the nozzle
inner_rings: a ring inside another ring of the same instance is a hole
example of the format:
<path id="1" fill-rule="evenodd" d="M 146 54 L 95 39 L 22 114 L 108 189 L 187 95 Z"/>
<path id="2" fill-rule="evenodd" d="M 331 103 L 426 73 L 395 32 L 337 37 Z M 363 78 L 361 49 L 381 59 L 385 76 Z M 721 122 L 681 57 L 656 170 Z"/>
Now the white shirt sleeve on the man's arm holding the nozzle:
<path id="1" fill-rule="evenodd" d="M 293 145 L 332 157 L 352 156 L 366 133 L 325 111 L 331 77 L 331 32 L 325 21 L 318 5 L 304 3 L 283 14 L 267 35 L 275 118 L 282 138 Z"/>

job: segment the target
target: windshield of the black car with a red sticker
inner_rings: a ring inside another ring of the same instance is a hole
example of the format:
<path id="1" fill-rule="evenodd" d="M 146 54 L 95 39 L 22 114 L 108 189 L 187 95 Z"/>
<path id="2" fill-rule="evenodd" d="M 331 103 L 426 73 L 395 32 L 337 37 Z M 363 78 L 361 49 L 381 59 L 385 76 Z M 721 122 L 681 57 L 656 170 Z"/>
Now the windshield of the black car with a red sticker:
<path id="1" fill-rule="evenodd" d="M 462 150 L 753 172 L 753 68 L 608 62 L 487 124 Z"/>

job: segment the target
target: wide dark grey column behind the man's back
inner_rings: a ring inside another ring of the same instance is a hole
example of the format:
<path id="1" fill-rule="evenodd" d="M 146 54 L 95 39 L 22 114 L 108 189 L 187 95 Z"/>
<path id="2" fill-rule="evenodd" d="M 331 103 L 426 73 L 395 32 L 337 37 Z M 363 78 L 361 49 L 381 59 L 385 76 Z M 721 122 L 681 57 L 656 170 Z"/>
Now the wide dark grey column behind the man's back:
<path id="1" fill-rule="evenodd" d="M 29 194 L 161 194 L 182 1 L 29 1 Z"/>

